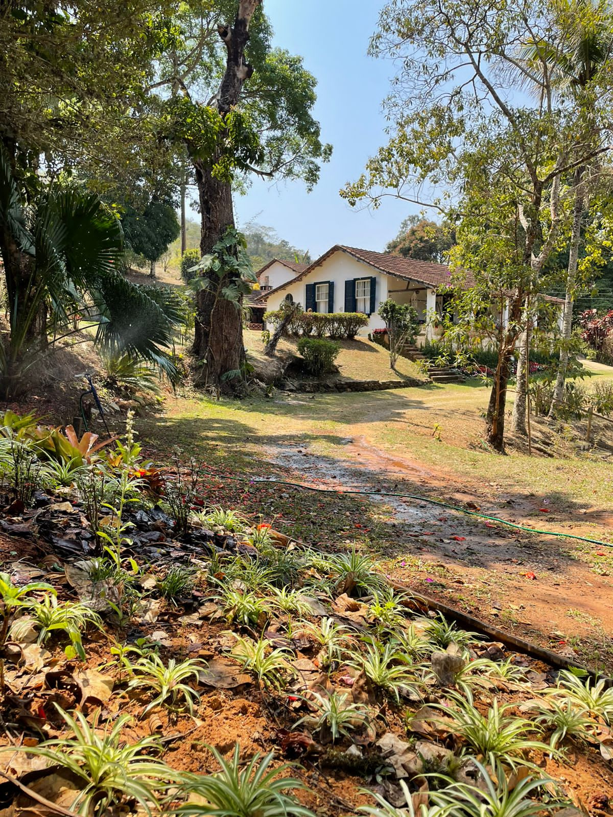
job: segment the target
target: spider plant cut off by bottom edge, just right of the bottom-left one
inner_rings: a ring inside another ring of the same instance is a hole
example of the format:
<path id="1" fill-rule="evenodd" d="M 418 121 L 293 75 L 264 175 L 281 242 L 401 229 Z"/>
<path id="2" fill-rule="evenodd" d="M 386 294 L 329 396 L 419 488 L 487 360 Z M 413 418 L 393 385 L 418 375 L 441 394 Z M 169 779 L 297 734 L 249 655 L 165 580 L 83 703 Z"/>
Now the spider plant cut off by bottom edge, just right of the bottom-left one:
<path id="1" fill-rule="evenodd" d="M 314 817 L 287 793 L 306 786 L 299 780 L 284 775 L 291 766 L 284 764 L 269 768 L 273 753 L 262 757 L 256 754 L 244 770 L 240 770 L 240 747 L 226 761 L 217 749 L 207 747 L 221 771 L 217 775 L 184 775 L 186 791 L 198 795 L 205 805 L 186 803 L 179 806 L 177 815 L 194 817 Z"/>

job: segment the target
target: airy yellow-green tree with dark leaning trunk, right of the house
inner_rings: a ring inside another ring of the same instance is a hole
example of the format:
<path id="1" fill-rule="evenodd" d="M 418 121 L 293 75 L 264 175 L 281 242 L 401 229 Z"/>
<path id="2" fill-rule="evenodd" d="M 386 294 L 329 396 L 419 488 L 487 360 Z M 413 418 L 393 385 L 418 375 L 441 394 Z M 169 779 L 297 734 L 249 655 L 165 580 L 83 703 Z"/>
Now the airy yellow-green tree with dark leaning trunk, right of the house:
<path id="1" fill-rule="evenodd" d="M 393 195 L 436 208 L 458 226 L 454 265 L 477 279 L 506 280 L 508 315 L 501 315 L 486 416 L 488 440 L 499 450 L 526 303 L 535 301 L 564 221 L 562 179 L 608 150 L 576 144 L 575 111 L 553 105 L 550 80 L 543 99 L 532 104 L 521 96 L 514 103 L 509 92 L 511 69 L 531 76 L 517 60 L 519 45 L 548 36 L 551 16 L 548 0 L 388 2 L 372 50 L 400 57 L 389 108 L 396 132 L 342 191 L 350 203 L 377 206 Z"/>

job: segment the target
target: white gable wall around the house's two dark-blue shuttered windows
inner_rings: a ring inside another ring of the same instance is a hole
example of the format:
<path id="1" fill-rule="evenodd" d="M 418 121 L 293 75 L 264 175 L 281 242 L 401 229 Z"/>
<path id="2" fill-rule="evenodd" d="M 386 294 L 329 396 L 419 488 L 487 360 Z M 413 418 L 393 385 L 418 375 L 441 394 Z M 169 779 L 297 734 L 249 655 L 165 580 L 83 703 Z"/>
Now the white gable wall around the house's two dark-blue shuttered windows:
<path id="1" fill-rule="evenodd" d="M 345 311 L 345 281 L 354 278 L 375 278 L 375 310 L 374 314 L 369 317 L 369 324 L 360 330 L 361 335 L 367 335 L 373 329 L 384 328 L 383 320 L 377 315 L 377 310 L 381 306 L 382 301 L 387 300 L 387 282 L 391 279 L 387 275 L 378 272 L 374 267 L 365 264 L 363 261 L 357 261 L 356 258 L 347 254 L 347 252 L 334 252 L 329 258 L 304 278 L 285 287 L 280 292 L 273 292 L 268 298 L 266 308 L 267 310 L 275 311 L 281 306 L 285 297 L 289 294 L 293 297 L 294 303 L 299 303 L 304 307 L 306 303 L 306 286 L 307 283 L 326 283 L 332 281 L 334 283 L 334 312 Z"/>

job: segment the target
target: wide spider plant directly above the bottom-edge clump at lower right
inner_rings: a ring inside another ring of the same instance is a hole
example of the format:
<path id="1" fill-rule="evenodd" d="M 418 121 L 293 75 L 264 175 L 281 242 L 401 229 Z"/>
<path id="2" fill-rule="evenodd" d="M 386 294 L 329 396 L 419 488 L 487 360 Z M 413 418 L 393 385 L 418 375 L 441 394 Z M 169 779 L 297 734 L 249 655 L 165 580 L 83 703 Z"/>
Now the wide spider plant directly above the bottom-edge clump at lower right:
<path id="1" fill-rule="evenodd" d="M 453 708 L 433 704 L 445 712 L 454 723 L 452 729 L 459 735 L 473 752 L 482 755 L 490 764 L 500 761 L 512 769 L 517 766 L 527 766 L 525 753 L 530 749 L 550 751 L 550 747 L 540 740 L 529 737 L 539 730 L 532 721 L 523 717 L 509 717 L 505 715 L 512 703 L 500 705 L 494 698 L 487 715 L 481 715 L 472 705 L 472 695 L 468 700 L 454 696 Z"/>

